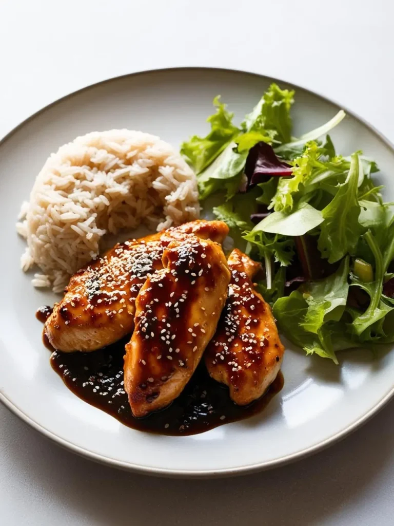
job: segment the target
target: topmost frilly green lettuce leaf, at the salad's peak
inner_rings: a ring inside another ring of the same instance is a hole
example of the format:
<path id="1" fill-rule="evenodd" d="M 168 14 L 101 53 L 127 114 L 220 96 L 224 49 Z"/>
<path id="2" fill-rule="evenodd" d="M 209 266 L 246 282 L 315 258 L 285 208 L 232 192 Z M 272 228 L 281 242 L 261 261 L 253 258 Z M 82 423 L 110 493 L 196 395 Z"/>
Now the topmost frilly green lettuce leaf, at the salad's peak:
<path id="1" fill-rule="evenodd" d="M 290 109 L 293 97 L 293 90 L 271 84 L 252 112 L 246 115 L 241 128 L 244 131 L 274 130 L 279 143 L 289 142 L 292 136 Z"/>

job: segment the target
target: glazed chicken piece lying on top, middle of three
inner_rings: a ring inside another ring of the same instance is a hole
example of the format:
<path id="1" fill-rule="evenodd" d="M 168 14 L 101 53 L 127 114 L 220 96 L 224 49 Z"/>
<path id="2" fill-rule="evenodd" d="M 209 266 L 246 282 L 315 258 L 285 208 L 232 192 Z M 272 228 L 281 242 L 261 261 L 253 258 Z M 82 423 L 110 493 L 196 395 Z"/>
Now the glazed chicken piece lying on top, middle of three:
<path id="1" fill-rule="evenodd" d="M 216 330 L 230 282 L 221 246 L 197 237 L 173 241 L 163 266 L 139 292 L 126 345 L 125 390 L 136 417 L 180 395 Z"/>

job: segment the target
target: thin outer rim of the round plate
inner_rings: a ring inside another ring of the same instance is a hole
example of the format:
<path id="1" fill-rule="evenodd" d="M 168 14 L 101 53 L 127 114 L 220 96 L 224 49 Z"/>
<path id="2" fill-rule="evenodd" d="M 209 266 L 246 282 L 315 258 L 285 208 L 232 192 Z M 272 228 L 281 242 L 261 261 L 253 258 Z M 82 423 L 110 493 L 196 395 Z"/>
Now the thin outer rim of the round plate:
<path id="1" fill-rule="evenodd" d="M 371 125 L 366 119 L 360 117 L 358 114 L 353 112 L 352 110 L 349 110 L 345 106 L 339 104 L 336 102 L 336 100 L 333 100 L 329 97 L 326 97 L 325 95 L 322 95 L 318 92 L 315 92 L 312 89 L 305 88 L 304 86 L 301 86 L 299 84 L 294 84 L 292 82 L 288 82 L 287 80 L 284 80 L 282 78 L 272 77 L 270 75 L 263 75 L 261 73 L 243 70 L 243 69 L 236 69 L 236 68 L 221 68 L 221 67 L 214 67 L 214 66 L 180 66 L 180 67 L 167 67 L 167 68 L 153 68 L 153 69 L 144 69 L 139 70 L 134 73 L 127 73 L 125 75 L 118 75 L 113 76 L 110 78 L 107 78 L 105 80 L 101 80 L 100 82 L 89 84 L 85 87 L 82 87 L 78 90 L 75 90 L 74 92 L 71 92 L 63 97 L 60 97 L 53 102 L 47 104 L 43 108 L 39 109 L 37 112 L 33 113 L 26 119 L 24 119 L 22 122 L 20 122 L 17 126 L 12 128 L 1 140 L 0 140 L 0 146 L 3 146 L 6 141 L 11 138 L 19 129 L 23 128 L 26 124 L 28 124 L 30 121 L 38 117 L 40 114 L 46 112 L 46 110 L 64 102 L 65 100 L 70 99 L 71 97 L 74 97 L 76 95 L 79 95 L 80 93 L 83 93 L 89 89 L 96 88 L 98 86 L 102 86 L 104 84 L 110 83 L 110 82 L 116 82 L 117 80 L 120 80 L 122 78 L 127 77 L 134 77 L 139 75 L 146 75 L 150 73 L 169 73 L 169 72 L 186 72 L 191 70 L 197 70 L 197 71 L 211 71 L 211 72 L 229 72 L 229 73 L 235 73 L 235 74 L 243 74 L 243 75 L 251 75 L 254 77 L 271 80 L 276 83 L 282 83 L 286 84 L 287 86 L 290 86 L 292 88 L 301 89 L 304 92 L 313 95 L 315 97 L 318 97 L 319 99 L 324 100 L 325 102 L 330 103 L 331 105 L 336 106 L 338 109 L 344 109 L 345 112 L 350 115 L 352 118 L 356 119 L 360 124 L 364 125 L 366 128 L 368 128 L 372 133 L 374 133 L 377 138 L 385 144 L 390 150 L 391 153 L 394 154 L 394 144 L 391 143 L 391 141 L 383 135 L 378 129 L 375 128 L 375 126 Z M 235 468 L 223 468 L 223 469 L 204 469 L 204 470 L 190 470 L 190 469 L 169 469 L 169 468 L 153 468 L 148 466 L 141 466 L 140 464 L 134 464 L 131 462 L 122 461 L 119 459 L 111 458 L 108 456 L 105 456 L 100 453 L 95 453 L 94 451 L 90 451 L 88 449 L 85 449 L 83 447 L 78 446 L 77 444 L 70 442 L 69 440 L 65 440 L 58 436 L 56 433 L 49 431 L 47 428 L 45 428 L 42 424 L 38 423 L 36 420 L 32 419 L 28 416 L 22 409 L 20 409 L 11 399 L 9 399 L 0 389 L 0 401 L 4 404 L 4 406 L 9 409 L 11 412 L 13 412 L 17 417 L 19 417 L 21 420 L 23 420 L 25 423 L 27 423 L 30 427 L 38 431 L 39 433 L 43 434 L 46 438 L 49 438 L 51 441 L 58 444 L 60 447 L 63 447 L 65 449 L 68 449 L 69 451 L 78 454 L 81 457 L 88 458 L 92 461 L 105 464 L 106 466 L 115 467 L 118 469 L 126 470 L 126 471 L 132 471 L 142 474 L 148 474 L 152 476 L 160 476 L 160 477 L 172 477 L 172 478 L 219 478 L 219 477 L 230 477 L 230 476 L 237 476 L 242 474 L 248 474 L 248 473 L 254 473 L 257 471 L 264 471 L 268 469 L 272 469 L 274 467 L 284 466 L 285 464 L 295 462 L 296 460 L 301 460 L 303 458 L 306 458 L 314 453 L 317 453 L 319 451 L 322 451 L 332 444 L 338 442 L 339 440 L 347 437 L 350 433 L 354 432 L 357 428 L 365 424 L 372 416 L 377 414 L 385 405 L 386 403 L 394 396 L 394 383 L 391 389 L 384 395 L 376 404 L 374 407 L 370 408 L 366 413 L 364 413 L 360 418 L 355 420 L 354 422 L 350 423 L 348 426 L 346 426 L 344 429 L 341 429 L 334 435 L 326 438 L 325 440 L 322 440 L 316 444 L 313 444 L 313 446 L 309 446 L 307 448 L 301 449 L 299 451 L 296 451 L 294 453 L 288 454 L 283 457 L 278 457 L 276 459 L 268 460 L 265 462 L 257 462 L 253 464 L 247 464 L 246 466 L 239 466 Z"/>

